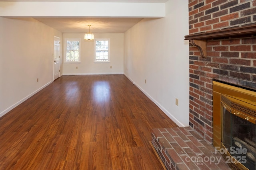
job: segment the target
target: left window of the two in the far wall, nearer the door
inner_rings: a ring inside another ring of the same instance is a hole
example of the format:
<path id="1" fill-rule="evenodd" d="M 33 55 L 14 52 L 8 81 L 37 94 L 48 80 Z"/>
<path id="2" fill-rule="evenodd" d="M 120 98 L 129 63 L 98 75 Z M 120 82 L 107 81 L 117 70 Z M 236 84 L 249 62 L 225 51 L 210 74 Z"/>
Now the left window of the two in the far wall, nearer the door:
<path id="1" fill-rule="evenodd" d="M 65 39 L 65 61 L 67 63 L 80 62 L 80 41 L 81 39 Z"/>

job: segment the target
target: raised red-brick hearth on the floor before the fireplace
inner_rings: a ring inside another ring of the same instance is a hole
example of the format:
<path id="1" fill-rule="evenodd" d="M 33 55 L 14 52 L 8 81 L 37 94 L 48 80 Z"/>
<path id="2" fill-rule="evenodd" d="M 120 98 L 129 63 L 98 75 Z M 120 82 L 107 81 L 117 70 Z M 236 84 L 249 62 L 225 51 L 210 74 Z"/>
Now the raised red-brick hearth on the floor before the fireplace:
<path id="1" fill-rule="evenodd" d="M 152 129 L 152 144 L 168 170 L 230 170 L 222 155 L 191 127 Z"/>

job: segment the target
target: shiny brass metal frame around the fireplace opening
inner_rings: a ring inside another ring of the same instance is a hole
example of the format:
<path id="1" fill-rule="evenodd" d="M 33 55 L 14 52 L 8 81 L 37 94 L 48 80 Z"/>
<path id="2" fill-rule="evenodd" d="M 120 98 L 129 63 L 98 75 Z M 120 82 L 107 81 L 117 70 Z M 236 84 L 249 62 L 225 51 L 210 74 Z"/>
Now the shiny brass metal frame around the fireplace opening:
<path id="1" fill-rule="evenodd" d="M 221 142 L 222 137 L 222 98 L 228 98 L 226 102 L 231 102 L 232 111 L 230 113 L 238 115 L 242 119 L 249 120 L 255 123 L 256 120 L 256 92 L 232 86 L 217 81 L 213 81 L 213 145 L 216 148 L 224 148 Z M 244 102 L 241 102 L 244 101 Z M 225 103 L 225 102 L 224 102 Z M 226 105 L 226 104 L 225 104 Z M 255 107 L 254 107 L 255 106 Z M 243 109 L 249 109 L 249 114 L 240 114 L 238 107 L 244 107 Z M 231 108 L 230 108 L 231 109 Z M 225 155 L 224 155 L 225 156 Z M 226 155 L 230 156 L 230 155 Z M 235 160 L 233 161 L 235 162 Z M 236 162 L 236 164 L 230 164 L 232 169 L 247 169 L 245 166 Z"/>

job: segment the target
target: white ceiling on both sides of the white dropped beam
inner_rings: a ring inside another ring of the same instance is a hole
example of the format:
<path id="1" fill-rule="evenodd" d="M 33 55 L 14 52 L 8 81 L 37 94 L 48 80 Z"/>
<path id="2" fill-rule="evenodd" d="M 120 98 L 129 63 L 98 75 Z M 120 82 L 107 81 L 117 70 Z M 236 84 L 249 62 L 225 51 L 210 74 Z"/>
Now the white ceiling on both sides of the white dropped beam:
<path id="1" fill-rule="evenodd" d="M 0 0 L 8 2 L 125 2 L 165 3 L 168 0 Z M 62 33 L 124 33 L 143 18 L 34 18 Z"/>

